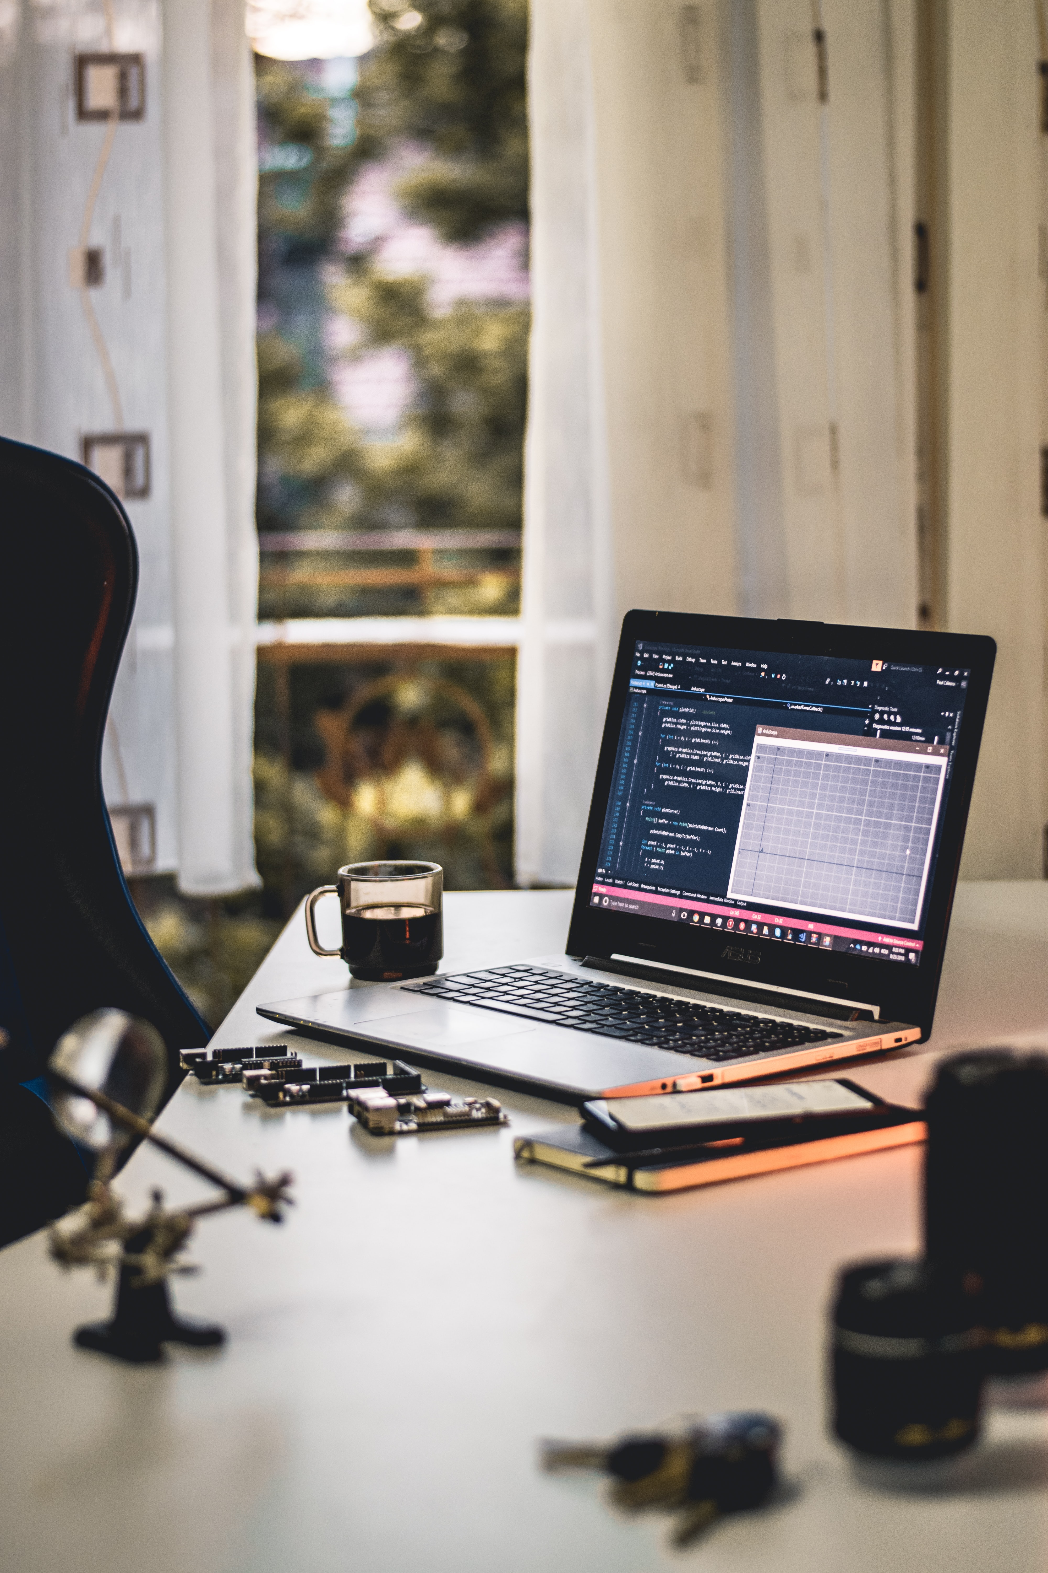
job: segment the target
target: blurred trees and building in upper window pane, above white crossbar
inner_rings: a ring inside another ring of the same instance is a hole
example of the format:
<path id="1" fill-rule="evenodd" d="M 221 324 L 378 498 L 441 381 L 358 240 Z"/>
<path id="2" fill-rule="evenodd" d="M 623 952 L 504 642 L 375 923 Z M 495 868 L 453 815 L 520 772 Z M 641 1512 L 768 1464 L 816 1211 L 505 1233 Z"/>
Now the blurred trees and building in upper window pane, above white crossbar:
<path id="1" fill-rule="evenodd" d="M 352 87 L 258 60 L 259 615 L 515 612 L 526 6 L 372 14 Z"/>

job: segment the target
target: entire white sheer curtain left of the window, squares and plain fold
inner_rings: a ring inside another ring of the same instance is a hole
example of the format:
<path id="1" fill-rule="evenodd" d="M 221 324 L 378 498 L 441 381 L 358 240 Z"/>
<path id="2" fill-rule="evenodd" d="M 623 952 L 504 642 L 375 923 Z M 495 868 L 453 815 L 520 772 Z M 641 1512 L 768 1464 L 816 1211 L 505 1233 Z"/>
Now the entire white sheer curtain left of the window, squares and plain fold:
<path id="1" fill-rule="evenodd" d="M 113 50 L 145 57 L 145 116 L 79 121 L 75 53 Z M 8 6 L 0 137 L 0 431 L 77 459 L 90 433 L 149 439 L 148 494 L 126 499 L 141 577 L 107 801 L 152 805 L 156 867 L 185 890 L 242 889 L 256 881 L 244 0 Z M 101 260 L 90 289 L 71 282 L 80 244 Z"/>

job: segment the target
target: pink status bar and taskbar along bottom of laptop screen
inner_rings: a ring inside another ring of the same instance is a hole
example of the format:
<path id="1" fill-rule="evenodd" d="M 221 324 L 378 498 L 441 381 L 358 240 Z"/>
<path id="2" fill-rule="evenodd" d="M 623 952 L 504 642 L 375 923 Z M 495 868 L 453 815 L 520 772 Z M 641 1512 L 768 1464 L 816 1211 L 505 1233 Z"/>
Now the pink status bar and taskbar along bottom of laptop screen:
<path id="1" fill-rule="evenodd" d="M 834 923 L 798 923 L 795 917 L 781 917 L 773 912 L 751 912 L 737 906 L 690 901 L 680 897 L 657 895 L 652 890 L 624 890 L 621 886 L 594 884 L 589 904 L 606 906 L 610 912 L 628 912 L 632 917 L 658 917 L 671 923 L 720 928 L 721 933 L 745 934 L 748 939 L 771 939 L 786 945 L 817 945 L 819 950 L 845 950 L 852 956 L 866 956 L 870 961 L 908 961 L 916 966 L 924 950 L 924 941 L 902 939 L 899 934 L 841 928 Z"/>

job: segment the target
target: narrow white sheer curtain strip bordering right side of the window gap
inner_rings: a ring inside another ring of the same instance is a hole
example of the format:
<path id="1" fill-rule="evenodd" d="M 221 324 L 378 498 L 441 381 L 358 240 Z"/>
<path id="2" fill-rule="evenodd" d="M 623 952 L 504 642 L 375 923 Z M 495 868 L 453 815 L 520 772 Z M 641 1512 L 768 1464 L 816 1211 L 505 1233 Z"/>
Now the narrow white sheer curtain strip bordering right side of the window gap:
<path id="1" fill-rule="evenodd" d="M 517 879 L 570 884 L 614 653 L 586 0 L 531 8 L 534 319 L 517 669 Z"/>

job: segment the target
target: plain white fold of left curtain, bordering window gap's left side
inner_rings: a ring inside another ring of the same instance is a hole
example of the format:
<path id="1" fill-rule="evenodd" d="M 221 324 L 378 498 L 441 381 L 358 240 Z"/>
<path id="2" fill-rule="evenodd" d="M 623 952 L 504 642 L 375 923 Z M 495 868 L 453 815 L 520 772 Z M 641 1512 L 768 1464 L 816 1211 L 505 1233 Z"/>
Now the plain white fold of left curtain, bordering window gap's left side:
<path id="1" fill-rule="evenodd" d="M 255 101 L 244 0 L 165 0 L 179 884 L 258 882 L 251 840 Z"/>

